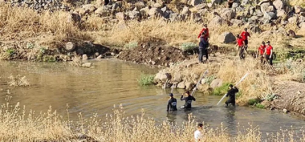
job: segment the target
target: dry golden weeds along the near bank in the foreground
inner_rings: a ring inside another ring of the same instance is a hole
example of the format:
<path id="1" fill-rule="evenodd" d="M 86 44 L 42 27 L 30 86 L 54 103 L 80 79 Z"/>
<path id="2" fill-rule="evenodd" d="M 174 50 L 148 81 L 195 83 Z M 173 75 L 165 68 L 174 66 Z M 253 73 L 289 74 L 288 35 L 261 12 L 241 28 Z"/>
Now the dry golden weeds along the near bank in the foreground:
<path id="1" fill-rule="evenodd" d="M 90 119 L 83 119 L 82 114 L 79 113 L 79 119 L 72 121 L 69 119 L 68 106 L 67 116 L 59 116 L 56 111 L 52 111 L 51 107 L 47 112 L 35 113 L 32 110 L 27 112 L 24 106 L 20 108 L 19 103 L 10 106 L 9 91 L 5 100 L 6 103 L 0 109 L 1 141 L 77 141 L 79 139 L 109 142 L 195 141 L 193 133 L 196 117 L 192 114 L 181 126 L 173 126 L 167 121 L 156 124 L 152 118 L 145 118 L 144 112 L 142 115 L 127 117 L 120 106 L 119 108 L 114 107 L 111 114 L 106 114 L 102 118 L 93 114 Z M 278 133 L 269 133 L 267 137 L 263 138 L 259 128 L 253 127 L 251 124 L 246 130 L 239 126 L 237 129 L 237 136 L 231 137 L 226 128 L 213 129 L 205 125 L 202 140 L 206 142 L 259 142 L 263 140 L 296 142 L 303 141 L 305 138 L 303 130 L 299 133 L 293 129 L 282 130 Z"/>

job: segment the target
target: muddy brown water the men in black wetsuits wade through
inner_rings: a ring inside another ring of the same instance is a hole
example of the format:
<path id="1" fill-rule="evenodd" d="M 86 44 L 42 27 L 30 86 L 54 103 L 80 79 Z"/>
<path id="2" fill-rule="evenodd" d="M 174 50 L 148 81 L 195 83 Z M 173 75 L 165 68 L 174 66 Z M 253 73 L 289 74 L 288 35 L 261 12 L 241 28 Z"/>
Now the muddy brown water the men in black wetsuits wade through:
<path id="1" fill-rule="evenodd" d="M 272 133 L 280 129 L 290 129 L 293 126 L 299 130 L 305 126 L 303 118 L 273 112 L 266 109 L 248 107 L 229 107 L 216 105 L 221 96 L 208 96 L 196 92 L 196 101 L 191 111 L 178 110 L 166 112 L 168 94 L 170 89 L 162 90 L 159 87 L 138 86 L 136 78 L 141 72 L 155 74 L 158 67 L 149 67 L 130 62 L 112 59 L 90 60 L 95 68 L 73 68 L 68 63 L 34 63 L 34 62 L 0 62 L 2 80 L 0 87 L 0 103 L 5 103 L 7 89 L 12 93 L 11 104 L 20 102 L 27 109 L 36 112 L 46 112 L 49 106 L 61 115 L 66 115 L 66 104 L 70 106 L 70 115 L 77 118 L 82 112 L 85 118 L 93 113 L 105 116 L 111 113 L 113 105 L 122 104 L 126 116 L 141 114 L 145 111 L 146 117 L 153 117 L 160 123 L 168 120 L 177 123 L 188 119 L 188 114 L 196 115 L 196 121 L 204 121 L 211 127 L 228 127 L 228 132 L 236 134 L 240 125 L 249 127 L 260 126 L 262 133 Z M 9 88 L 7 77 L 9 74 L 27 76 L 31 87 Z M 180 101 L 183 90 L 174 89 L 174 97 L 178 100 L 178 106 L 184 104 Z M 239 123 L 239 124 L 238 124 Z"/>

